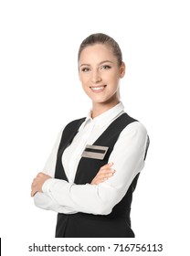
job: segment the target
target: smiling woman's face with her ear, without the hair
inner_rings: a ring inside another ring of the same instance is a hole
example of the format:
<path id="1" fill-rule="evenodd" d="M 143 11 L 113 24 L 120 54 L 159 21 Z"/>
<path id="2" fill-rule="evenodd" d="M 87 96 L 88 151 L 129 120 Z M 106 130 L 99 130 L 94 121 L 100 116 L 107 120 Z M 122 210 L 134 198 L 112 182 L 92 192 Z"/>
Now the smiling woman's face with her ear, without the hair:
<path id="1" fill-rule="evenodd" d="M 84 48 L 79 58 L 79 80 L 93 103 L 117 104 L 119 81 L 125 65 L 118 65 L 110 47 L 96 44 Z"/>

